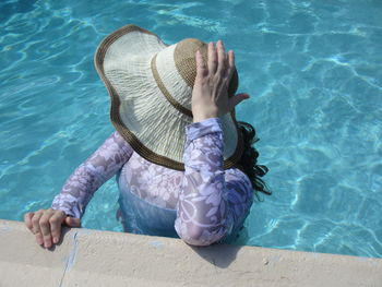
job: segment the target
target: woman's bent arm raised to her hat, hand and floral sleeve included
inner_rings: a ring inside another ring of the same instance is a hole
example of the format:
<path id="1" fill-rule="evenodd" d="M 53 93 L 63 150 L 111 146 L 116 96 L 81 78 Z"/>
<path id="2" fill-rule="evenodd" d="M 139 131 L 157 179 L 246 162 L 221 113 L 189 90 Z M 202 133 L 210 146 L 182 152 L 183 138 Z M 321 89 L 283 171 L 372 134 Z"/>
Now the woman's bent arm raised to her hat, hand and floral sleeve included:
<path id="1" fill-rule="evenodd" d="M 222 41 L 216 48 L 213 43 L 208 44 L 207 65 L 199 51 L 195 61 L 193 123 L 186 131 L 186 171 L 175 228 L 186 242 L 207 246 L 231 234 L 246 218 L 253 202 L 252 187 L 244 175 L 232 169 L 230 180 L 226 181 L 223 129 L 218 118 L 249 96 L 228 97 L 235 60 L 232 51 L 225 52 Z"/>

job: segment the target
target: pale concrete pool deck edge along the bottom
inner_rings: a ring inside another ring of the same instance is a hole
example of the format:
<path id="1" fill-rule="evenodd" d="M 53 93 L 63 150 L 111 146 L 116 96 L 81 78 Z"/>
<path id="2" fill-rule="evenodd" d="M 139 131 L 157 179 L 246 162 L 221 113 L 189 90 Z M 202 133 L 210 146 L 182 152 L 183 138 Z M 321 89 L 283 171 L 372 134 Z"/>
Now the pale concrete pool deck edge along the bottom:
<path id="1" fill-rule="evenodd" d="M 382 286 L 382 259 L 64 228 L 50 250 L 0 219 L 0 286 Z"/>

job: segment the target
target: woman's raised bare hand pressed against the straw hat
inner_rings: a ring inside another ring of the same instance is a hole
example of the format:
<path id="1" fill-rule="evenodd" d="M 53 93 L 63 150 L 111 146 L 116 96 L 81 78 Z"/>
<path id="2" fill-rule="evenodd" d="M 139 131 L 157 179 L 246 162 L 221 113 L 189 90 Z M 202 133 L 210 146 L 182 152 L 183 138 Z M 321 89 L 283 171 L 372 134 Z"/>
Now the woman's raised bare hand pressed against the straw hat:
<path id="1" fill-rule="evenodd" d="M 235 71 L 234 51 L 225 52 L 223 43 L 208 44 L 208 63 L 196 51 L 196 77 L 192 91 L 193 122 L 217 118 L 231 111 L 236 105 L 249 98 L 247 94 L 228 97 L 228 85 Z"/>

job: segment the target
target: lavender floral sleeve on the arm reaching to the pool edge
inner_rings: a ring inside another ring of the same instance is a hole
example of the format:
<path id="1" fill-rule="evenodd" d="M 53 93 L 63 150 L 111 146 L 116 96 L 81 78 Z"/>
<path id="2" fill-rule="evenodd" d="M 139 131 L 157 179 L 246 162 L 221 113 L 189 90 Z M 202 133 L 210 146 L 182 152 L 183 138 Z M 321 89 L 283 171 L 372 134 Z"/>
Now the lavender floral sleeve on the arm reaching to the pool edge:
<path id="1" fill-rule="evenodd" d="M 116 131 L 65 181 L 51 208 L 81 218 L 94 192 L 122 168 L 133 150 Z"/>

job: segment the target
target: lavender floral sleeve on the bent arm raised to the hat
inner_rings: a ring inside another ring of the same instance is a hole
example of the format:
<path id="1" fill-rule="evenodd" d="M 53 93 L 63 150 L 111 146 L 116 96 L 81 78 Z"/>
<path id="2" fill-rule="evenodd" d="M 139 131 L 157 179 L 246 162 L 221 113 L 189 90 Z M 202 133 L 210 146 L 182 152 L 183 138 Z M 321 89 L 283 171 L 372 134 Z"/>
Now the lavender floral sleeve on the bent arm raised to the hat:
<path id="1" fill-rule="evenodd" d="M 223 128 L 218 118 L 186 128 L 184 177 L 175 228 L 193 246 L 208 246 L 229 236 L 247 217 L 253 203 L 248 177 L 223 168 Z"/>

